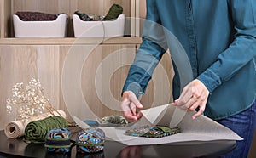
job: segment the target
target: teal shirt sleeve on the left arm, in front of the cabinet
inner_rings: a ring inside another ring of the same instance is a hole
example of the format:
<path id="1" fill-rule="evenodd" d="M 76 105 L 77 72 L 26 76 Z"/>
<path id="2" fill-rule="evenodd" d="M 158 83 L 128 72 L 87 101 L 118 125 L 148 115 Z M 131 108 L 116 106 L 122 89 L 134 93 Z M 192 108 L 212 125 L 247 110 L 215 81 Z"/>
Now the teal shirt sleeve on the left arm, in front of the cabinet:
<path id="1" fill-rule="evenodd" d="M 130 67 L 122 92 L 132 91 L 137 98 L 145 93 L 149 80 L 162 55 L 166 52 L 164 31 L 155 0 L 147 1 L 147 16 L 143 25 L 143 42 Z"/>

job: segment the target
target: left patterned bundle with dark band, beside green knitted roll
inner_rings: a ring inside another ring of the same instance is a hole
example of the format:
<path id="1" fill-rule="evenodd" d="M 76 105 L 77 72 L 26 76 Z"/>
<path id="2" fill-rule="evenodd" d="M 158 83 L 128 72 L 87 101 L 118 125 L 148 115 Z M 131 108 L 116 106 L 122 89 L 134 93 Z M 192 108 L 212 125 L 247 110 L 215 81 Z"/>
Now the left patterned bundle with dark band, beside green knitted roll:
<path id="1" fill-rule="evenodd" d="M 67 153 L 71 147 L 70 134 L 67 128 L 54 128 L 47 133 L 44 146 L 49 152 Z"/>

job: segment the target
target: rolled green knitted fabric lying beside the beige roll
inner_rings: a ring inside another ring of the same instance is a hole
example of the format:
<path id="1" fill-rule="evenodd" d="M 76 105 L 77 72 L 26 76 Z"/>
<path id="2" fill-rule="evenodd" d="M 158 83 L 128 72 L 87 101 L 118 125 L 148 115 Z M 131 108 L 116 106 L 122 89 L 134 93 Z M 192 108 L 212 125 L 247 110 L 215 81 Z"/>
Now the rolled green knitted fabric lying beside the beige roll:
<path id="1" fill-rule="evenodd" d="M 49 116 L 45 119 L 32 121 L 25 128 L 26 143 L 44 143 L 49 130 L 53 128 L 68 127 L 67 121 L 61 116 Z"/>

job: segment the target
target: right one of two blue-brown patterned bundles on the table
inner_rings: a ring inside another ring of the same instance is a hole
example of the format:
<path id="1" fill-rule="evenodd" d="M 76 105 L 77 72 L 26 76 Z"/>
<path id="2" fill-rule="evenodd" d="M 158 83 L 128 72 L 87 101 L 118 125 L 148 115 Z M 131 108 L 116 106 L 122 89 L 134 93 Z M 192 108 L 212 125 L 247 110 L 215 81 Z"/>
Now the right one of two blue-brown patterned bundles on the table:
<path id="1" fill-rule="evenodd" d="M 76 138 L 78 153 L 96 153 L 104 149 L 105 133 L 100 128 L 81 130 Z"/>

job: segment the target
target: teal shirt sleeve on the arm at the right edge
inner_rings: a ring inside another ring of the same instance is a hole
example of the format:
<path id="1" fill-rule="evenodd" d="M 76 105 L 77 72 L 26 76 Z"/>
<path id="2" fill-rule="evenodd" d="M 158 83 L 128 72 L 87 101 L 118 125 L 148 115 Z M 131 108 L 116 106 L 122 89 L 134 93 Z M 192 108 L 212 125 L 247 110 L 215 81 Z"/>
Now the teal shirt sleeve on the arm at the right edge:
<path id="1" fill-rule="evenodd" d="M 230 0 L 234 40 L 230 47 L 198 79 L 212 91 L 236 75 L 256 57 L 256 3 L 255 0 Z M 221 28 L 220 28 L 221 29 Z"/>

